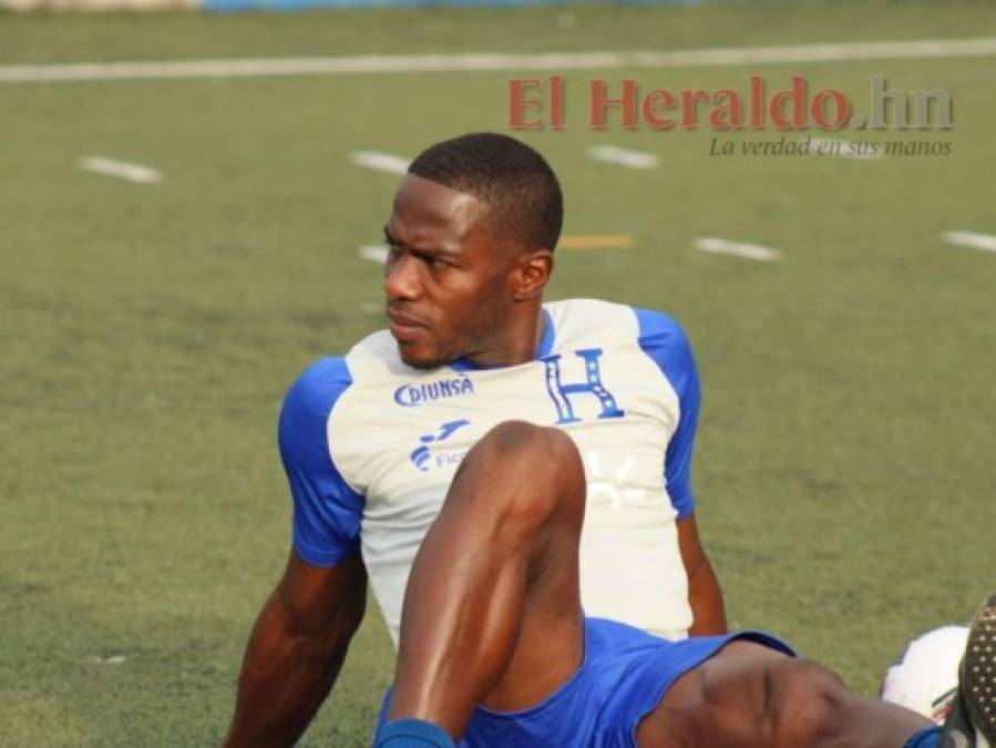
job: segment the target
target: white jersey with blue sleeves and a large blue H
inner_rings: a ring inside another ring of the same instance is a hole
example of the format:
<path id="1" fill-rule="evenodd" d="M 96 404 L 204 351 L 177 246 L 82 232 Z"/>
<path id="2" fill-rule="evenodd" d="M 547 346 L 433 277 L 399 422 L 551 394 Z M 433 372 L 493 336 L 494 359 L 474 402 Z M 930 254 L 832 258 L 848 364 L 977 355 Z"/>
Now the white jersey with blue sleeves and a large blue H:
<path id="1" fill-rule="evenodd" d="M 688 341 L 660 312 L 606 301 L 551 303 L 543 315 L 524 363 L 419 370 L 382 330 L 314 363 L 287 395 L 279 441 L 294 547 L 317 566 L 360 550 L 396 645 L 415 552 L 456 467 L 510 419 L 563 429 L 584 458 L 585 613 L 671 638 L 691 624 L 675 524 L 695 505 Z"/>

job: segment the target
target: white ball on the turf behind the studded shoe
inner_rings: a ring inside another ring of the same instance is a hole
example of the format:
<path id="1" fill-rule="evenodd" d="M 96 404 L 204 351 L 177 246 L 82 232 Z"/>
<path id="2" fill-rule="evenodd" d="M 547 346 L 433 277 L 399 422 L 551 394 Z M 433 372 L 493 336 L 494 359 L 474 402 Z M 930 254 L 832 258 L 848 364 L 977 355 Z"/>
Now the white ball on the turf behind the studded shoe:
<path id="1" fill-rule="evenodd" d="M 943 725 L 958 688 L 967 626 L 942 626 L 913 639 L 885 672 L 882 698 Z"/>

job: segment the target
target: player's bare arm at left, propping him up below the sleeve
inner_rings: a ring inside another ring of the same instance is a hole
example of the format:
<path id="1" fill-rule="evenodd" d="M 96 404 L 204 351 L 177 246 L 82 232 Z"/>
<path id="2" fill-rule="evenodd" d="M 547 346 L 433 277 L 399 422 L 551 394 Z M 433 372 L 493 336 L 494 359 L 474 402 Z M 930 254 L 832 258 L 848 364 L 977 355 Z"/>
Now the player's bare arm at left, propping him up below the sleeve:
<path id="1" fill-rule="evenodd" d="M 322 568 L 291 551 L 246 648 L 226 748 L 297 741 L 339 675 L 366 601 L 359 553 Z"/>

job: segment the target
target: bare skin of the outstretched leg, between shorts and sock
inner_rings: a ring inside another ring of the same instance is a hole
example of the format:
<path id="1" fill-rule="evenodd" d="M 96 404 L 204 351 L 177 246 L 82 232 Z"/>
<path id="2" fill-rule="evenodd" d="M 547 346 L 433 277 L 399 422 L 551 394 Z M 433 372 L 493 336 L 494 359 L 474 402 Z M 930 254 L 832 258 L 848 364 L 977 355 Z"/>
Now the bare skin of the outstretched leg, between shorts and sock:
<path id="1" fill-rule="evenodd" d="M 640 748 L 902 748 L 932 723 L 854 696 L 825 668 L 732 642 L 678 678 L 640 723 Z"/>

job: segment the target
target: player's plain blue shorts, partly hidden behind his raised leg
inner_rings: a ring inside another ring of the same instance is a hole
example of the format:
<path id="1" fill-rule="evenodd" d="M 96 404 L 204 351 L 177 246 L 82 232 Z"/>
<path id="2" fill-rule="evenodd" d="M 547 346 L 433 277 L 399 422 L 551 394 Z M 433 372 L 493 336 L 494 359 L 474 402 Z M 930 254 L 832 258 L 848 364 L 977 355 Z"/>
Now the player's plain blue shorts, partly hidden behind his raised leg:
<path id="1" fill-rule="evenodd" d="M 670 685 L 733 639 L 794 655 L 787 644 L 759 632 L 668 642 L 614 621 L 585 618 L 584 662 L 567 683 L 521 711 L 478 707 L 459 748 L 635 748 L 640 719 Z M 390 691 L 378 730 L 389 699 Z"/>

